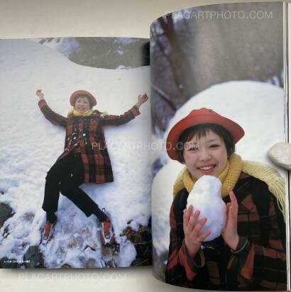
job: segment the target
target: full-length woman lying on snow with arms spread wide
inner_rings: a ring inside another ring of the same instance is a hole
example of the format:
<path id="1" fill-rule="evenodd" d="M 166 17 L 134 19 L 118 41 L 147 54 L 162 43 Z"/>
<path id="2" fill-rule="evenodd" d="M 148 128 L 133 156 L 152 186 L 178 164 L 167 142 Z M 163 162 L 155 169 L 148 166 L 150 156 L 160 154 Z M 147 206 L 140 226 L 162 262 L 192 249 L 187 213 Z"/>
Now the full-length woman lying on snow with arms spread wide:
<path id="1" fill-rule="evenodd" d="M 88 91 L 78 90 L 70 96 L 73 107 L 67 118 L 50 109 L 41 89 L 36 91 L 39 97 L 38 106 L 45 118 L 54 125 L 66 129 L 65 150 L 50 168 L 45 181 L 43 210 L 46 222 L 43 228 L 42 241 L 48 242 L 53 237 L 57 223 L 57 205 L 60 193 L 67 196 L 87 217 L 94 214 L 101 230 L 102 245 L 114 244 L 114 229 L 109 214 L 100 210 L 97 203 L 79 188 L 81 184 L 104 184 L 114 181 L 111 162 L 104 137 L 104 125 L 122 125 L 140 114 L 140 106 L 148 100 L 146 94 L 138 96 L 138 101 L 129 111 L 121 116 L 109 116 L 94 110 L 97 101 Z"/>

